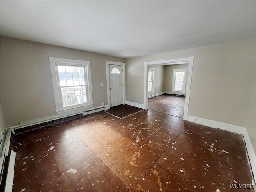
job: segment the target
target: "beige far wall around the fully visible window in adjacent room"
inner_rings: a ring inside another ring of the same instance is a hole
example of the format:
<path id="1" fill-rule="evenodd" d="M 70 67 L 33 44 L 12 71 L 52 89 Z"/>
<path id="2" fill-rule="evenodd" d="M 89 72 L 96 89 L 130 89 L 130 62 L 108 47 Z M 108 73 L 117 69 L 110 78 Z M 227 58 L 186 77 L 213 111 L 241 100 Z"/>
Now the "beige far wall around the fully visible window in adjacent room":
<path id="1" fill-rule="evenodd" d="M 174 69 L 187 69 L 186 79 L 188 76 L 188 64 L 166 65 L 164 66 L 164 92 L 172 92 L 172 75 Z"/>

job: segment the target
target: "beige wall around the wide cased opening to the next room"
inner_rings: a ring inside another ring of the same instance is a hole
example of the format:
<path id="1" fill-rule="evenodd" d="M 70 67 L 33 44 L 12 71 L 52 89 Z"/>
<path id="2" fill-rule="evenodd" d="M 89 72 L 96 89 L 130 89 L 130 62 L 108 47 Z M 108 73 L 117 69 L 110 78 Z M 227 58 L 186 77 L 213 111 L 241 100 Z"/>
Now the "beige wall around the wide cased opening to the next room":
<path id="1" fill-rule="evenodd" d="M 255 44 L 252 38 L 128 58 L 126 99 L 143 104 L 145 61 L 194 56 L 188 114 L 242 127 L 248 125 L 246 129 L 253 135 L 250 139 L 255 150 L 256 128 L 249 127 L 251 118 L 248 120 L 249 107 L 255 102 L 255 98 L 250 102 L 256 76 Z"/>

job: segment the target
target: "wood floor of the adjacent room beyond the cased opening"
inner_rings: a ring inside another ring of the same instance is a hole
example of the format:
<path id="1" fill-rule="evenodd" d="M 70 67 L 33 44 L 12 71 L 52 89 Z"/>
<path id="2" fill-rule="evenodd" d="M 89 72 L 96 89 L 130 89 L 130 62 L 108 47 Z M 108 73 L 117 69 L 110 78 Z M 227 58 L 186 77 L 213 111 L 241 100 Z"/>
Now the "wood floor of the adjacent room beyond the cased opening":
<path id="1" fill-rule="evenodd" d="M 148 109 L 164 114 L 183 118 L 185 97 L 160 95 L 148 99 Z"/>

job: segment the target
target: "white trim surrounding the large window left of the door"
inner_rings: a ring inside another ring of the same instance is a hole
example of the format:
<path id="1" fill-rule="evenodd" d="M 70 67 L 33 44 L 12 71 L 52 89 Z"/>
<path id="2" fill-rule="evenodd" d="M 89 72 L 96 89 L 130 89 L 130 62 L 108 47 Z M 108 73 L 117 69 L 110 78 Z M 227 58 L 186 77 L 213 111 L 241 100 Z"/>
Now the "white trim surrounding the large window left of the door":
<path id="1" fill-rule="evenodd" d="M 90 108 L 93 106 L 92 101 L 92 79 L 91 79 L 91 64 L 90 61 L 82 61 L 82 60 L 72 60 L 72 59 L 63 59 L 63 58 L 54 58 L 49 57 L 50 61 L 50 68 L 52 73 L 52 85 L 53 85 L 53 91 L 54 91 L 54 99 L 55 99 L 55 105 L 56 105 L 56 113 L 64 113 L 64 112 L 71 112 L 78 109 L 86 110 L 86 108 Z M 86 81 L 88 82 L 88 104 L 85 105 L 75 105 L 70 107 L 62 107 L 62 102 L 60 100 L 60 92 L 58 88 L 58 75 L 57 75 L 57 64 L 67 64 L 67 65 L 76 65 L 76 66 L 84 66 L 86 70 Z"/>

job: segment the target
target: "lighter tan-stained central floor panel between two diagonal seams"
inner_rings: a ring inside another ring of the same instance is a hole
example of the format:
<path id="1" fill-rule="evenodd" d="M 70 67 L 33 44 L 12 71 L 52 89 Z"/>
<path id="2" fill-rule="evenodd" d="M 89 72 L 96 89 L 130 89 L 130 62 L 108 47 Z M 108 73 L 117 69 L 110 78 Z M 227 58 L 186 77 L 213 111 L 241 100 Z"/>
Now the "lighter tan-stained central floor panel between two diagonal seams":
<path id="1" fill-rule="evenodd" d="M 145 113 L 142 114 L 135 114 L 121 123 L 102 118 L 100 122 L 72 128 L 129 189 L 138 182 L 135 178 L 141 178 L 178 136 L 178 132 L 184 129 L 161 127 L 159 113 L 149 112 L 150 116 L 154 116 L 153 121 L 148 121 Z"/>

